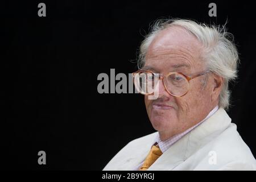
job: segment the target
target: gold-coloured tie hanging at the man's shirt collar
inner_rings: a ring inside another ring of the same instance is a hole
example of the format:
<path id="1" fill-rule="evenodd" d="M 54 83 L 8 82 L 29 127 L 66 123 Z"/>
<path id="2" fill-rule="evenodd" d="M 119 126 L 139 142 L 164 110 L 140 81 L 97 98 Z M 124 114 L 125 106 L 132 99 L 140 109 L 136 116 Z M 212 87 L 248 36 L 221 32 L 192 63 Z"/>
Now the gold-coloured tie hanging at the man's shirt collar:
<path id="1" fill-rule="evenodd" d="M 162 154 L 163 152 L 160 150 L 158 145 L 152 146 L 149 154 L 144 160 L 142 167 L 139 168 L 139 171 L 146 171 Z"/>

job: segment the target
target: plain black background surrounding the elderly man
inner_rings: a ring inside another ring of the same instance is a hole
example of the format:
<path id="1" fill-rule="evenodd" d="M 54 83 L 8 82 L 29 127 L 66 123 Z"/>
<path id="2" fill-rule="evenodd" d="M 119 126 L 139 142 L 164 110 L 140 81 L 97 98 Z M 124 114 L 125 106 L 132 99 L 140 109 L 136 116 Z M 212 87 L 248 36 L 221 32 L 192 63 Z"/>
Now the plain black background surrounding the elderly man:
<path id="1" fill-rule="evenodd" d="M 228 19 L 241 59 L 228 114 L 255 156 L 255 6 L 214 1 L 211 18 L 210 2 L 1 2 L 1 168 L 101 170 L 130 140 L 154 132 L 143 96 L 99 94 L 97 76 L 136 71 L 131 60 L 149 24 L 168 17 Z"/>

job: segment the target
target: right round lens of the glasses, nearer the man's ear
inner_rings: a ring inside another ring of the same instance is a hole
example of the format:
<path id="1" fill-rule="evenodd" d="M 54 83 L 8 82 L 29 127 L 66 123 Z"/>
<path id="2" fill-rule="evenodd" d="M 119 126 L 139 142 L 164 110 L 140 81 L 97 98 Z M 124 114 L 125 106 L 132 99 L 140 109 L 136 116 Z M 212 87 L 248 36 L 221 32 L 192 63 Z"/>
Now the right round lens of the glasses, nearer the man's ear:
<path id="1" fill-rule="evenodd" d="M 166 87 L 174 96 L 183 96 L 188 92 L 188 80 L 179 73 L 172 73 L 166 78 Z"/>

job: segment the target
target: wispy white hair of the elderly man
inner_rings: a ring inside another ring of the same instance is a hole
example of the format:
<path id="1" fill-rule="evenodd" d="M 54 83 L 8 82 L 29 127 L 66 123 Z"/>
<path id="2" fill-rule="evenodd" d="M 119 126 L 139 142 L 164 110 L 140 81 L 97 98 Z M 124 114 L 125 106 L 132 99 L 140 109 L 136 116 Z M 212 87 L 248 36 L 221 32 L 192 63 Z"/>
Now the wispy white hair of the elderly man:
<path id="1" fill-rule="evenodd" d="M 205 61 L 209 71 L 224 79 L 219 96 L 219 106 L 228 110 L 230 102 L 229 82 L 237 77 L 239 64 L 238 52 L 234 44 L 233 35 L 226 32 L 224 26 L 207 26 L 188 19 L 160 19 L 151 27 L 139 49 L 138 68 L 143 67 L 147 49 L 155 36 L 162 30 L 180 26 L 191 32 L 203 46 L 202 60 Z"/>

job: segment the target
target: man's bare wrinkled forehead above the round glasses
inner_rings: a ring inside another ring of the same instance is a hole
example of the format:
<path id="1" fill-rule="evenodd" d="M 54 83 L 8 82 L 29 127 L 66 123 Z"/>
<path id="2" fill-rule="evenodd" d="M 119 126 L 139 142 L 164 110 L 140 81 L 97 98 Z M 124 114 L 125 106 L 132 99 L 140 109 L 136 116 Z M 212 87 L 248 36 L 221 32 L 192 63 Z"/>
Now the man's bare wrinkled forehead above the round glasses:
<path id="1" fill-rule="evenodd" d="M 182 27 L 169 27 L 152 40 L 146 54 L 145 66 L 170 69 L 182 64 L 187 65 L 183 69 L 200 70 L 203 67 L 200 60 L 201 49 L 201 43 L 195 35 Z"/>

